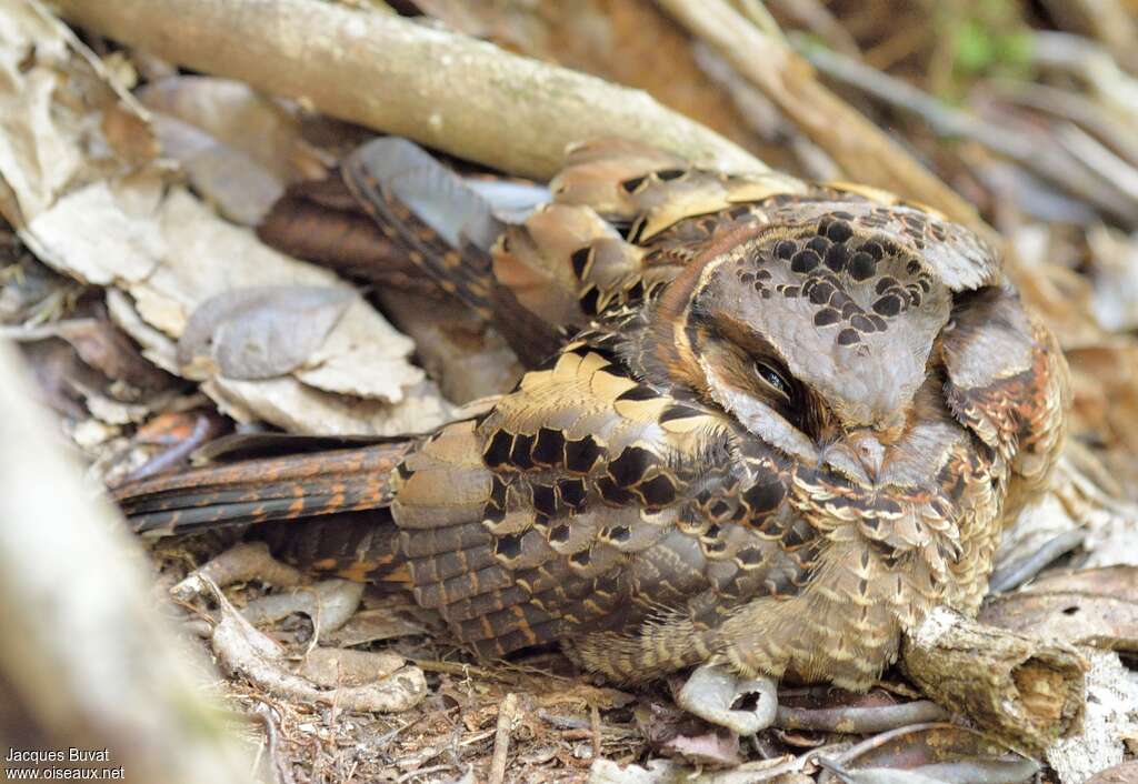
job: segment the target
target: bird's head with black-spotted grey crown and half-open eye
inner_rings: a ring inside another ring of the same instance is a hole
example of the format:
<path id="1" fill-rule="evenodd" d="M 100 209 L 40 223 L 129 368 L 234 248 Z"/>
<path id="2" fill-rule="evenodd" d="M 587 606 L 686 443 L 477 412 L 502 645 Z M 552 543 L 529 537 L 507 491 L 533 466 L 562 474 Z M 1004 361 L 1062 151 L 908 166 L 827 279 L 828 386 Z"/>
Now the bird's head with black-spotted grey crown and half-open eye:
<path id="1" fill-rule="evenodd" d="M 938 254 L 983 250 L 915 207 L 798 203 L 721 236 L 668 286 L 657 345 L 676 380 L 766 443 L 877 484 L 926 419 L 918 393 L 940 387 L 954 294 Z"/>

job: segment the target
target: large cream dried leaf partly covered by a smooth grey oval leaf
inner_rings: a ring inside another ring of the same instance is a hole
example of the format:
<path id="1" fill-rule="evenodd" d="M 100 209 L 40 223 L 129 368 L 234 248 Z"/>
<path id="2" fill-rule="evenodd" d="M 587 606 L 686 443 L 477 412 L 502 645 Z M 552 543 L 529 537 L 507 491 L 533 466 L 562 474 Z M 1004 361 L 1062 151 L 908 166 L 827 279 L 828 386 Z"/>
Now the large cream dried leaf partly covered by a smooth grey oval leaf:
<path id="1" fill-rule="evenodd" d="M 339 282 L 335 274 L 288 258 L 258 242 L 249 231 L 217 220 L 182 189 L 168 195 L 159 213 L 170 253 L 154 274 L 130 286 L 129 291 L 143 322 L 166 335 L 181 335 L 198 303 L 232 289 Z M 116 319 L 129 321 L 122 313 Z M 154 336 L 148 339 L 137 324 L 126 329 L 149 352 L 162 353 Z M 422 371 L 406 362 L 412 350 L 410 339 L 372 307 L 354 299 L 320 350 L 310 357 L 313 366 L 299 371 L 305 383 L 288 378 L 216 378 L 204 388 L 239 421 L 261 419 L 294 432 L 420 431 L 448 419 L 452 410 L 432 385 L 423 385 Z M 327 371 L 321 370 L 324 365 Z M 353 397 L 328 394 L 341 390 Z"/>

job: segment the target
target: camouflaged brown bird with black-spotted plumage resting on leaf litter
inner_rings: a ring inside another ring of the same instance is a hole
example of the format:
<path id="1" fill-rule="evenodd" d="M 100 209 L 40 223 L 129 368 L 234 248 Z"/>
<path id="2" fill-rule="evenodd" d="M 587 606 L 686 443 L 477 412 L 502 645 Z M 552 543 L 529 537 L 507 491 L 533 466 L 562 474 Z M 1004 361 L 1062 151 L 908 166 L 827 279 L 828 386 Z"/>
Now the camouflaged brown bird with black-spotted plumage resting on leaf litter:
<path id="1" fill-rule="evenodd" d="M 305 518 L 270 536 L 292 562 L 403 584 L 484 657 L 560 642 L 625 683 L 866 690 L 932 608 L 975 613 L 1069 393 L 974 233 L 613 140 L 503 221 L 407 145 L 346 164 L 389 238 L 522 356 L 569 338 L 428 436 L 119 488 L 140 530 Z"/>

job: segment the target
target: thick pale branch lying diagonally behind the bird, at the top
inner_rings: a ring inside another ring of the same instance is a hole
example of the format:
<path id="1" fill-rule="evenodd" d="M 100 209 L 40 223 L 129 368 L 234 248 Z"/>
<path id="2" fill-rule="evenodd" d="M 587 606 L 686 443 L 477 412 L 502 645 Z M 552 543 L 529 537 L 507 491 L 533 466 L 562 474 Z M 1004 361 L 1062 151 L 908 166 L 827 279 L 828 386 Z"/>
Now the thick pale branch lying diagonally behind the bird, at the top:
<path id="1" fill-rule="evenodd" d="M 57 0 L 73 22 L 179 65 L 539 179 L 567 145 L 641 140 L 735 171 L 766 165 L 648 93 L 394 15 L 314 0 Z"/>

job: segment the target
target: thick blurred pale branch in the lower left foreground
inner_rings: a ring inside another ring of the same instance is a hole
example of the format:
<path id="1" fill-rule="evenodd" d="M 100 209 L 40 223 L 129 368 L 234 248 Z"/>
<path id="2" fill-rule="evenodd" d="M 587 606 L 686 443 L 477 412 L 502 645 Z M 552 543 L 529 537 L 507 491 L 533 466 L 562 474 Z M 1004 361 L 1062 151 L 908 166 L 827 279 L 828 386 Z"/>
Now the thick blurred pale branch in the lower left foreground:
<path id="1" fill-rule="evenodd" d="M 0 746 L 106 749 L 91 764 L 149 784 L 248 782 L 154 610 L 137 545 L 84 488 L 20 364 L 0 344 Z"/>

